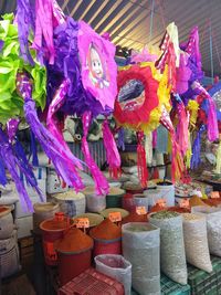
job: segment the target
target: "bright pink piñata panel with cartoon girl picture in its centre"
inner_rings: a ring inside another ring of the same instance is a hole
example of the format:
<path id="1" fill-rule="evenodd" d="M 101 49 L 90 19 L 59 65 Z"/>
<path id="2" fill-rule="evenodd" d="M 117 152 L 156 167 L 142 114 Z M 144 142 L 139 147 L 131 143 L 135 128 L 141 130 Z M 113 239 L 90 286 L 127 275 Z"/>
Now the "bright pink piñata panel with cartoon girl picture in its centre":
<path id="1" fill-rule="evenodd" d="M 114 109 L 117 95 L 115 46 L 83 21 L 78 22 L 77 48 L 82 83 L 103 109 Z"/>

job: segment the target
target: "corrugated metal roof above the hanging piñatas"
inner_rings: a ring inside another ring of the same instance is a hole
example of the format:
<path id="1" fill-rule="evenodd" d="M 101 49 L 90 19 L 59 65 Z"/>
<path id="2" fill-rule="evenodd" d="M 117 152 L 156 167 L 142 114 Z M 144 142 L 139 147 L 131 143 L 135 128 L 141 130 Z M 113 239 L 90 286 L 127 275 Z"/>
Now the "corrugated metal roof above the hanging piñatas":
<path id="1" fill-rule="evenodd" d="M 198 25 L 202 65 L 208 76 L 221 75 L 221 0 L 59 0 L 65 14 L 84 20 L 97 33 L 109 32 L 122 48 L 158 46 L 170 22 L 180 41 Z M 15 0 L 0 0 L 0 13 L 12 12 Z M 152 12 L 154 11 L 154 12 Z M 212 53 L 212 54 L 211 54 Z M 212 62 L 211 62 L 212 61 Z"/>

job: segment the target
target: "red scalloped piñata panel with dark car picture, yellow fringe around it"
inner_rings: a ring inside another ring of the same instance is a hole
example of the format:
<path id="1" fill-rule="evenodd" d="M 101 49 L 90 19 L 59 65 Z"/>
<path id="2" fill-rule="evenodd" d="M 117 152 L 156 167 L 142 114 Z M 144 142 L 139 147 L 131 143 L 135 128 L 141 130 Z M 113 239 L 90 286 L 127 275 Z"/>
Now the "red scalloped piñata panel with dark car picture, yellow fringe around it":
<path id="1" fill-rule="evenodd" d="M 152 77 L 150 66 L 131 65 L 118 72 L 118 96 L 114 116 L 118 125 L 145 130 L 150 114 L 159 105 L 159 82 Z"/>

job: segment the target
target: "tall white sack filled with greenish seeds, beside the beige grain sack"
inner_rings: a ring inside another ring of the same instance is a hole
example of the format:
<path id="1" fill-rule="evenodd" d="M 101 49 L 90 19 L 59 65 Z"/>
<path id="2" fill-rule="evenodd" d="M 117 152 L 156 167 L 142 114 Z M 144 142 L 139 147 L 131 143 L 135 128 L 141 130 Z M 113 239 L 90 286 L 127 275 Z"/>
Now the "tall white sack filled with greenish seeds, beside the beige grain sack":
<path id="1" fill-rule="evenodd" d="M 172 212 L 173 213 L 173 212 Z M 182 231 L 182 217 L 157 219 L 152 213 L 149 222 L 160 228 L 160 265 L 161 271 L 172 281 L 187 284 L 187 263 Z"/>

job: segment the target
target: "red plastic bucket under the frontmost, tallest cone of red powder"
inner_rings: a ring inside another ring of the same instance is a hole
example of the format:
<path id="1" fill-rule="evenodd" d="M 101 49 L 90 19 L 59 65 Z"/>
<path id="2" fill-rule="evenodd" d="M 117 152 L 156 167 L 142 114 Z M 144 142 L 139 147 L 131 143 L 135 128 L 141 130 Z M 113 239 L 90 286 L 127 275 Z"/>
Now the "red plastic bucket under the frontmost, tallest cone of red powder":
<path id="1" fill-rule="evenodd" d="M 62 253 L 59 255 L 59 278 L 61 286 L 91 267 L 92 250 L 81 253 Z"/>

